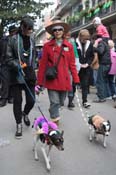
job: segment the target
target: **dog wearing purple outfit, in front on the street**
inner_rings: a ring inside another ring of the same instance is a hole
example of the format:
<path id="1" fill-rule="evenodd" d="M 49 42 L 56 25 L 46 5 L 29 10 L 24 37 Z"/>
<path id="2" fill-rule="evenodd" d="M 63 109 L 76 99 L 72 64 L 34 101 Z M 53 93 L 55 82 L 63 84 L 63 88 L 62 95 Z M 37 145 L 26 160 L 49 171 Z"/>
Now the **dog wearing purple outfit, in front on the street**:
<path id="1" fill-rule="evenodd" d="M 46 162 L 47 170 L 51 169 L 50 166 L 50 151 L 54 145 L 58 150 L 63 151 L 63 131 L 58 131 L 58 126 L 52 122 L 48 121 L 45 117 L 41 116 L 35 119 L 33 128 L 35 130 L 34 135 L 34 157 L 35 160 L 39 160 L 37 148 L 38 141 L 42 143 L 41 150 Z"/>

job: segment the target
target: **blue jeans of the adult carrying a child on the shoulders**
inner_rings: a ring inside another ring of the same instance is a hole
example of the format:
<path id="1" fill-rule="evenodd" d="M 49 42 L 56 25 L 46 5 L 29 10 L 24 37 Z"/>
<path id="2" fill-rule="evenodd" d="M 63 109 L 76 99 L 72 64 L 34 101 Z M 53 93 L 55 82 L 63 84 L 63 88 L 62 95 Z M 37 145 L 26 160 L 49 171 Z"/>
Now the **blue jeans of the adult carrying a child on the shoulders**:
<path id="1" fill-rule="evenodd" d="M 107 96 L 108 72 L 110 65 L 100 65 L 97 74 L 97 95 L 99 99 L 104 99 Z"/>

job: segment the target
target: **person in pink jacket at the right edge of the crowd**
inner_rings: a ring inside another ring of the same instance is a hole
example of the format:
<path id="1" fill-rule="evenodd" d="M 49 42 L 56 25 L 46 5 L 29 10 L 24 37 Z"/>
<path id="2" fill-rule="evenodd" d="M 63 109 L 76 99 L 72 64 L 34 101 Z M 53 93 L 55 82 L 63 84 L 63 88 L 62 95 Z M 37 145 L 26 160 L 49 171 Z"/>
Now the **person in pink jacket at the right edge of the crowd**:
<path id="1" fill-rule="evenodd" d="M 111 56 L 111 68 L 108 75 L 109 80 L 109 96 L 113 99 L 116 99 L 116 86 L 115 86 L 115 76 L 116 76 L 116 52 L 114 51 L 114 42 L 113 40 L 108 41 L 110 47 L 110 56 Z"/>

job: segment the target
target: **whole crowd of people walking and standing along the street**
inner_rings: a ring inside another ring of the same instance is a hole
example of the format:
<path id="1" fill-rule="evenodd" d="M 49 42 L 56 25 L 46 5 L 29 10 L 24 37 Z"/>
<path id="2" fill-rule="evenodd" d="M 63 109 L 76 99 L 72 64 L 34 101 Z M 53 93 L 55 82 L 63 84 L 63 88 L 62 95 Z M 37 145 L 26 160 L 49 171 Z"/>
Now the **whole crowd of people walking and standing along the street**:
<path id="1" fill-rule="evenodd" d="M 71 37 L 70 26 L 56 19 L 46 26 L 51 39 L 42 44 L 39 54 L 33 33 L 34 22 L 25 17 L 20 27 L 9 28 L 9 36 L 0 40 L 0 107 L 13 103 L 16 121 L 16 138 L 22 137 L 22 119 L 30 126 L 29 112 L 35 103 L 35 86 L 47 89 L 50 102 L 50 118 L 57 125 L 59 109 L 68 97 L 68 108 L 75 107 L 73 99 L 76 88 L 81 88 L 82 106 L 89 108 L 90 79 L 97 89 L 93 102 L 116 99 L 116 52 L 114 42 L 99 17 L 95 17 L 95 34 L 81 29 L 77 38 Z M 12 30 L 11 30 L 12 29 Z M 38 57 L 38 73 L 35 74 L 35 58 Z M 5 73 L 6 72 L 6 73 Z M 26 102 L 22 107 L 22 91 Z"/>

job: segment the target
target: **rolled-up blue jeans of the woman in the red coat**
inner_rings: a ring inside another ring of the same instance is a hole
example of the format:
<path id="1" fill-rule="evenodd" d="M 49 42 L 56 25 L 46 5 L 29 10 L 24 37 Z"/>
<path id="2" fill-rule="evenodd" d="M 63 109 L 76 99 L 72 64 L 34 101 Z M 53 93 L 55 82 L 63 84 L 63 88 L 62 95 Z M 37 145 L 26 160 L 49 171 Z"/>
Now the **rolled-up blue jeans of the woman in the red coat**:
<path id="1" fill-rule="evenodd" d="M 56 119 L 60 117 L 59 108 L 64 105 L 66 98 L 66 91 L 55 91 L 48 89 L 48 96 L 50 100 L 50 117 Z"/>

